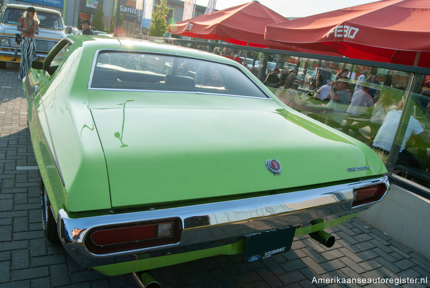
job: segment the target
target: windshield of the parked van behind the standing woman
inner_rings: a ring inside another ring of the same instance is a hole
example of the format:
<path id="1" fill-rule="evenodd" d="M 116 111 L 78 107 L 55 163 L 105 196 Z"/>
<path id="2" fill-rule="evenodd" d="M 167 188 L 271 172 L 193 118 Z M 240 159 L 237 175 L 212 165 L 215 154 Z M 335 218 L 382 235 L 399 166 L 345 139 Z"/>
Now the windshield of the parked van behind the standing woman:
<path id="1" fill-rule="evenodd" d="M 2 23 L 18 24 L 19 18 L 24 14 L 24 9 L 8 7 L 3 13 Z M 36 11 L 39 19 L 39 28 L 48 28 L 52 30 L 63 30 L 60 15 L 49 12 Z"/>

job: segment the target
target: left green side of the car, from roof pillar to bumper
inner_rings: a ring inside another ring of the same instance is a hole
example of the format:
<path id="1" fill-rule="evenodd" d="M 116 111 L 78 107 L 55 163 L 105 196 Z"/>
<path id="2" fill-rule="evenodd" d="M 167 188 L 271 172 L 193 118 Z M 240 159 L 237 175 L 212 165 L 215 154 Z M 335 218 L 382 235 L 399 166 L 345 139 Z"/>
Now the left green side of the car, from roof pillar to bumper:
<path id="1" fill-rule="evenodd" d="M 92 58 L 81 61 L 82 57 L 82 48 L 77 47 L 52 76 L 41 77 L 40 81 L 42 72 L 32 70 L 26 80 L 40 85 L 39 92 L 27 95 L 30 131 L 40 170 L 52 165 L 40 161 L 40 155 L 46 153 L 44 146 L 49 148 L 57 170 L 55 175 L 41 173 L 55 214 L 63 205 L 72 212 L 111 207 L 104 155 L 86 102 Z M 44 139 L 40 139 L 42 135 Z M 64 183 L 61 192 L 60 175 Z"/>

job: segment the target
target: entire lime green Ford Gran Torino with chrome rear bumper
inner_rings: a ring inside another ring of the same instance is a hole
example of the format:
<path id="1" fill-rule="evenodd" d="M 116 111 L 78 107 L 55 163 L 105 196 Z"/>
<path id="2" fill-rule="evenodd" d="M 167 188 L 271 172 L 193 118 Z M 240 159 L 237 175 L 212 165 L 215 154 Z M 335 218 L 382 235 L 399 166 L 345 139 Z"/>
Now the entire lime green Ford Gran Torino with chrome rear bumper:
<path id="1" fill-rule="evenodd" d="M 70 35 L 23 87 L 46 238 L 105 275 L 330 246 L 389 189 L 369 147 L 215 54 Z"/>

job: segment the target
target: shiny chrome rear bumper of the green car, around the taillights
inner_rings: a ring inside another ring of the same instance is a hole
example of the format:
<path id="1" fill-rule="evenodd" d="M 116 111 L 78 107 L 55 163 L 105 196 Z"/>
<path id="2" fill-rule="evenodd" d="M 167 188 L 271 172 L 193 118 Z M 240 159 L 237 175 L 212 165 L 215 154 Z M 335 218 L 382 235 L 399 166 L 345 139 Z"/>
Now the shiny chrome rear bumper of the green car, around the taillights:
<path id="1" fill-rule="evenodd" d="M 238 242 L 243 235 L 283 226 L 309 226 L 316 219 L 324 221 L 367 209 L 382 200 L 351 209 L 353 189 L 379 183 L 390 188 L 388 177 L 378 177 L 358 182 L 301 190 L 283 194 L 148 210 L 132 213 L 109 214 L 72 219 L 66 211 L 58 212 L 58 234 L 68 253 L 82 266 L 94 267 L 136 260 L 138 253 L 147 257 L 183 253 Z M 385 192 L 386 193 L 386 192 Z M 385 195 L 384 193 L 384 195 Z M 97 226 L 133 223 L 179 217 L 182 235 L 179 243 L 122 251 L 111 254 L 93 254 L 85 244 L 86 233 Z M 75 240 L 74 228 L 86 229 Z"/>

